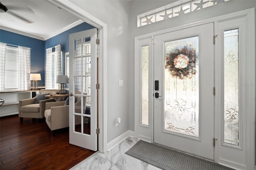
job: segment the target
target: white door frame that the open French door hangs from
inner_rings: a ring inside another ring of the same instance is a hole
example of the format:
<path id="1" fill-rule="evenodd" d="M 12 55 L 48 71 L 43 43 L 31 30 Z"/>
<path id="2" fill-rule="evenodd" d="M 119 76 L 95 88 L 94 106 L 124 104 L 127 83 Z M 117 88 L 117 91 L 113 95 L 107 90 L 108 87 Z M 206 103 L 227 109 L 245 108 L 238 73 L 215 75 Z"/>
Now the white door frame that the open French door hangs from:
<path id="1" fill-rule="evenodd" d="M 100 83 L 100 89 L 98 90 L 98 128 L 100 128 L 98 150 L 105 153 L 107 148 L 107 24 L 68 0 L 49 0 L 49 2 L 60 6 L 60 8 L 76 15 L 84 22 L 98 29 L 98 39 L 100 39 L 100 44 L 98 45 L 98 83 Z"/>

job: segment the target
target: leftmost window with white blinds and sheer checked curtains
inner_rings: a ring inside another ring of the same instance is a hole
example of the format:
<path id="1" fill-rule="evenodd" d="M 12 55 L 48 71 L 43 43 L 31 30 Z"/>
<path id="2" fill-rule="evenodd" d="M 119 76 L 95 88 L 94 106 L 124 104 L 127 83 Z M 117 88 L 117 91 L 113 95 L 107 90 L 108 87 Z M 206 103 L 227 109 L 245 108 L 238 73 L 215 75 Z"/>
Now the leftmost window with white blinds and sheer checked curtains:
<path id="1" fill-rule="evenodd" d="M 0 43 L 0 91 L 29 90 L 30 48 Z"/>

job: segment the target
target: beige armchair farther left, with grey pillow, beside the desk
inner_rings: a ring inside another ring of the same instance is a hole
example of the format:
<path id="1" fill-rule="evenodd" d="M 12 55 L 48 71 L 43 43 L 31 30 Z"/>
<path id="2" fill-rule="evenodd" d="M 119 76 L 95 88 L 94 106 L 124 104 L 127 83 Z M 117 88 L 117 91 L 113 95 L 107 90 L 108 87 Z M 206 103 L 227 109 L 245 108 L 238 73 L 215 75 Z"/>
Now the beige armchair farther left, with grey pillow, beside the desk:
<path id="1" fill-rule="evenodd" d="M 38 94 L 52 94 L 52 92 L 59 91 L 58 89 L 41 89 Z M 55 102 L 54 99 L 41 100 L 39 103 L 34 103 L 36 97 L 31 99 L 24 99 L 19 101 L 19 117 L 20 122 L 24 117 L 27 118 L 44 118 L 45 104 L 46 102 Z"/>

